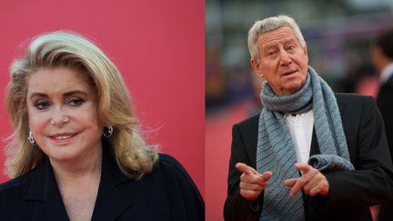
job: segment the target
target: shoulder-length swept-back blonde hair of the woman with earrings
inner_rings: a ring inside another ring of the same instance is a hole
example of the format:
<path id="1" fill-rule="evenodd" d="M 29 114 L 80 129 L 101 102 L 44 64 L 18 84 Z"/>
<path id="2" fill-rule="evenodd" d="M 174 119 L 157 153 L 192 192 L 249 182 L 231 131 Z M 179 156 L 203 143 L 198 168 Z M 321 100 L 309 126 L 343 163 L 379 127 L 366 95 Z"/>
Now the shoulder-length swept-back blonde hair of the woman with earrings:
<path id="1" fill-rule="evenodd" d="M 25 56 L 16 59 L 10 67 L 6 104 L 15 132 L 7 145 L 7 174 L 22 176 L 45 157 L 39 146 L 33 146 L 27 140 L 27 82 L 29 75 L 39 68 L 60 66 L 79 70 L 96 90 L 97 116 L 102 126 L 114 127 L 113 135 L 107 139 L 121 171 L 133 178 L 150 172 L 158 155 L 147 150 L 148 146 L 138 132 L 130 95 L 116 66 L 86 37 L 58 31 L 35 37 Z"/>

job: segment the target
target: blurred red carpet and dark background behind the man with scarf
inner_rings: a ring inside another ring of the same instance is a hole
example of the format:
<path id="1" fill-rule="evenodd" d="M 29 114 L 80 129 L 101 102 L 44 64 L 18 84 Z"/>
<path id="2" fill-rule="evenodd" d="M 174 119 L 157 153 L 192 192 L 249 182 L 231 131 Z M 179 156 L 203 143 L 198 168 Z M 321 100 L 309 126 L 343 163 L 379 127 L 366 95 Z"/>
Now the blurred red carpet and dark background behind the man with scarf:
<path id="1" fill-rule="evenodd" d="M 223 220 L 232 125 L 259 111 L 261 82 L 249 65 L 247 31 L 256 20 L 292 15 L 309 64 L 335 92 L 376 95 L 370 43 L 393 28 L 391 0 L 207 0 L 207 220 Z"/>

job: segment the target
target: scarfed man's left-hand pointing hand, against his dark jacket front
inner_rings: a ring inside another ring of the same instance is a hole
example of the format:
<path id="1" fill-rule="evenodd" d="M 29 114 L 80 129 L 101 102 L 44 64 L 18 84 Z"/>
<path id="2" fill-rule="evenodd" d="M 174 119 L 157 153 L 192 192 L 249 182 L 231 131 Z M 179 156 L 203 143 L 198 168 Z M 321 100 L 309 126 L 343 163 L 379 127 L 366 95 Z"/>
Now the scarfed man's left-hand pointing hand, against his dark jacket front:
<path id="1" fill-rule="evenodd" d="M 270 179 L 272 173 L 267 171 L 261 175 L 256 169 L 243 163 L 237 163 L 236 168 L 242 172 L 239 184 L 240 195 L 249 201 L 256 200 L 267 186 L 267 180 Z"/>

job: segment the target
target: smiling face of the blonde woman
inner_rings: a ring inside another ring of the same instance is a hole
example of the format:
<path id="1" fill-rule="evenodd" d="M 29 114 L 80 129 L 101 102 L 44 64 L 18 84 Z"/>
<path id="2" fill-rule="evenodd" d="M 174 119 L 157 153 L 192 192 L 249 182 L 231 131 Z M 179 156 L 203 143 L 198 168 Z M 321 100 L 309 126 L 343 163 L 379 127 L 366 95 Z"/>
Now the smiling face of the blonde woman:
<path id="1" fill-rule="evenodd" d="M 96 93 L 78 71 L 38 69 L 27 82 L 26 100 L 30 130 L 51 160 L 83 160 L 101 151 Z"/>

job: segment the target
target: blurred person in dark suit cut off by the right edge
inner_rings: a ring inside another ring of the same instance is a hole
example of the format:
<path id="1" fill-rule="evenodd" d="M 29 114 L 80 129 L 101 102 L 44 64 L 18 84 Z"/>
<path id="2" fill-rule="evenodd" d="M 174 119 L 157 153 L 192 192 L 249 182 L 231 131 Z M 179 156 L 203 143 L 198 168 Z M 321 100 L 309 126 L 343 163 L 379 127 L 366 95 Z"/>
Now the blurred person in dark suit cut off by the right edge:
<path id="1" fill-rule="evenodd" d="M 377 105 L 384 118 L 390 158 L 393 159 L 393 30 L 378 35 L 372 45 L 372 58 L 380 73 Z M 393 220 L 393 202 L 380 206 L 378 220 Z"/>

